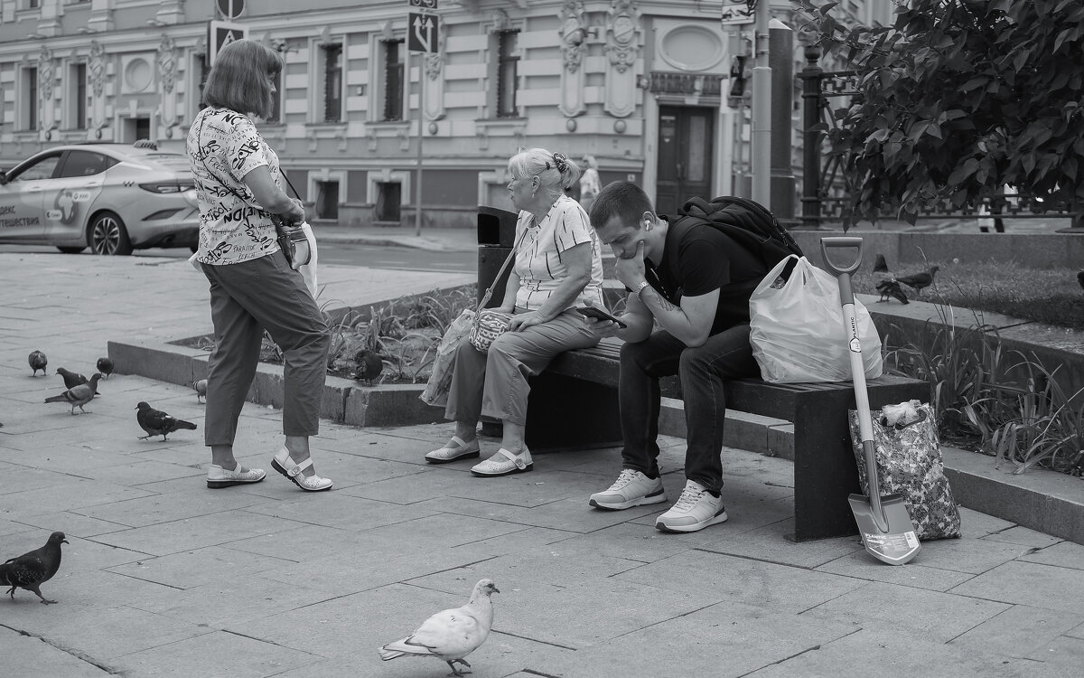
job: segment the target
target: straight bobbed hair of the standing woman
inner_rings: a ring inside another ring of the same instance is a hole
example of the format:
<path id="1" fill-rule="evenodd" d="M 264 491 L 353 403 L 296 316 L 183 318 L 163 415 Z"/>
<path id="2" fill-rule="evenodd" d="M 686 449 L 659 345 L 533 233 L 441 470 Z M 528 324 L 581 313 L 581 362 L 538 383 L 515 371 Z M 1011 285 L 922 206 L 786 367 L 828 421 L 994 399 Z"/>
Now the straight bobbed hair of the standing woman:
<path id="1" fill-rule="evenodd" d="M 274 110 L 268 76 L 280 73 L 279 52 L 255 40 L 235 40 L 218 51 L 204 86 L 204 103 L 268 118 Z"/>

